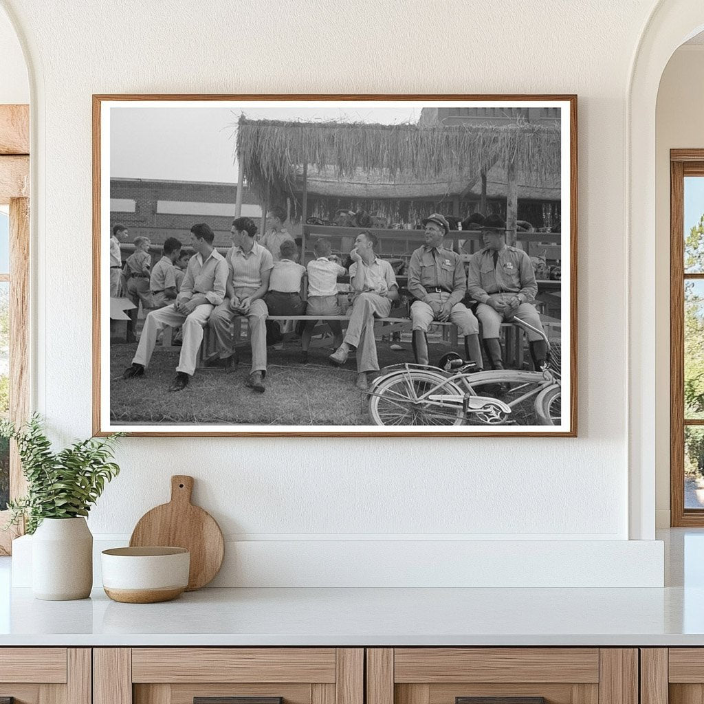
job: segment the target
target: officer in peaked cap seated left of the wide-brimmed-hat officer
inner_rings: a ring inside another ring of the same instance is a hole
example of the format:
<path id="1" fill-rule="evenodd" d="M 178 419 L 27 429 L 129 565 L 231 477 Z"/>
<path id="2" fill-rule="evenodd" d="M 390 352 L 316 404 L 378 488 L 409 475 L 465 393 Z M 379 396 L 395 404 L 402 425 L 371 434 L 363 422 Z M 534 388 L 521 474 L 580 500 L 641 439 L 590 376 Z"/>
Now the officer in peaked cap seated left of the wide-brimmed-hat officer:
<path id="1" fill-rule="evenodd" d="M 442 246 L 450 225 L 440 213 L 423 220 L 425 245 L 416 249 L 408 263 L 408 291 L 416 299 L 410 306 L 413 351 L 418 364 L 428 363 L 427 330 L 433 320 L 457 325 L 465 337 L 465 353 L 479 371 L 484 368 L 479 346 L 479 323 L 463 305 L 467 277 L 462 257 Z"/>

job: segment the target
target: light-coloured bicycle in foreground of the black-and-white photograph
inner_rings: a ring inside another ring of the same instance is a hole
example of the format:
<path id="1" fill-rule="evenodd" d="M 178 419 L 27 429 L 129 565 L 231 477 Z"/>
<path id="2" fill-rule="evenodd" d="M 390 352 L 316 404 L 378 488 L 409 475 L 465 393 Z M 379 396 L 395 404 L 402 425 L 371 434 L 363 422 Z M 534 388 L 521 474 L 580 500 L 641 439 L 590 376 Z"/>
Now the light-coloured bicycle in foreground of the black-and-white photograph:
<path id="1" fill-rule="evenodd" d="M 472 372 L 457 355 L 445 368 L 398 364 L 384 368 L 368 393 L 375 425 L 560 425 L 560 344 L 527 322 L 548 346 L 539 371 Z"/>

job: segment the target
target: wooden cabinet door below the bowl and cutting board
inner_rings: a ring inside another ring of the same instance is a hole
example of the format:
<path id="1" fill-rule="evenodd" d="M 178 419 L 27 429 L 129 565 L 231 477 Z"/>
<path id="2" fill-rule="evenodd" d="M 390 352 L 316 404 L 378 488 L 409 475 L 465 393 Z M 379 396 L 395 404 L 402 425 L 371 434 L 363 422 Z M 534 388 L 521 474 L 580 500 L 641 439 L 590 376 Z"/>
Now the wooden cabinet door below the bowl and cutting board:
<path id="1" fill-rule="evenodd" d="M 361 648 L 96 648 L 94 704 L 363 704 Z"/>

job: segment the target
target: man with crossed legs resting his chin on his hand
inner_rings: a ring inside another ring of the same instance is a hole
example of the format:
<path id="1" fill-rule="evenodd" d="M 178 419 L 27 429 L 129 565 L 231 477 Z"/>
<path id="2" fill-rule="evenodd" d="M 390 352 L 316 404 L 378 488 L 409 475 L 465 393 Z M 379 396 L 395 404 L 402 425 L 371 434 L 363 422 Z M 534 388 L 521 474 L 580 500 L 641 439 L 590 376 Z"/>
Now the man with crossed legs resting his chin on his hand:
<path id="1" fill-rule="evenodd" d="M 391 301 L 398 298 L 398 284 L 391 264 L 379 259 L 374 252 L 377 237 L 371 232 L 361 232 L 350 252 L 352 265 L 350 281 L 355 291 L 352 314 L 345 339 L 330 355 L 330 360 L 343 365 L 352 347 L 357 348 L 357 388 L 369 387 L 367 372 L 379 369 L 377 341 L 374 337 L 374 318 L 387 318 Z"/>

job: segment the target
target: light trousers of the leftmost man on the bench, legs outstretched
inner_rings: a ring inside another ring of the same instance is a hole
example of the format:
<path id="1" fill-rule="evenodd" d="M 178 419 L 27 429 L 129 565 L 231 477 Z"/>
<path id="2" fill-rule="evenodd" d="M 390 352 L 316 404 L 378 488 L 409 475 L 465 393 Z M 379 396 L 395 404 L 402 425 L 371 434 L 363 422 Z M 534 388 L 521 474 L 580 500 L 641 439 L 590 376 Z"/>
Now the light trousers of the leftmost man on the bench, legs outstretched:
<path id="1" fill-rule="evenodd" d="M 196 371 L 198 351 L 203 341 L 203 327 L 212 312 L 213 306 L 210 303 L 202 303 L 190 315 L 178 313 L 173 306 L 152 310 L 144 321 L 142 337 L 139 338 L 137 353 L 132 362 L 148 366 L 159 332 L 167 325 L 170 327 L 183 325 L 183 345 L 176 371 L 193 376 Z"/>

